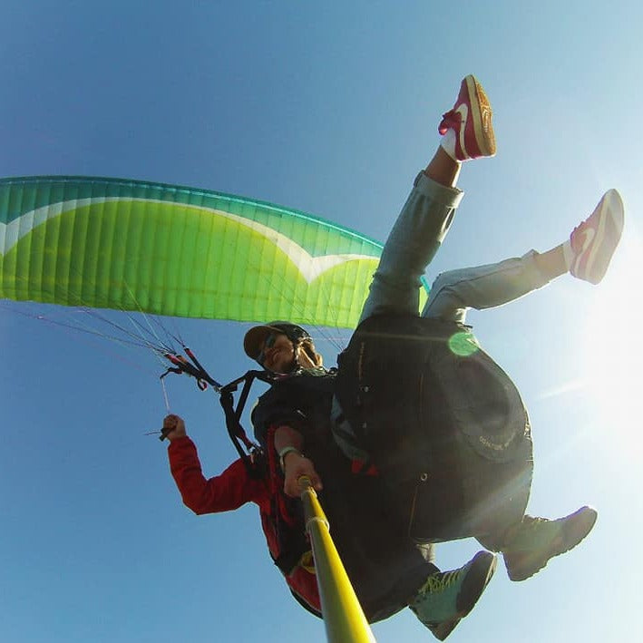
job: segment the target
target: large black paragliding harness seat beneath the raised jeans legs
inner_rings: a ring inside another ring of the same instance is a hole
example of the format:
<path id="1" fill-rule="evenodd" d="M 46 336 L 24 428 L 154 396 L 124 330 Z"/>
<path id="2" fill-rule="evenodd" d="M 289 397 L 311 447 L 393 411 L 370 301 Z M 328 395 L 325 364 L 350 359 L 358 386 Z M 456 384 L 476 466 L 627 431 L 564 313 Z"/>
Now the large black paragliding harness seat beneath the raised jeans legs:
<path id="1" fill-rule="evenodd" d="M 338 358 L 336 442 L 373 463 L 416 541 L 520 520 L 531 486 L 527 411 L 471 327 L 378 316 Z"/>

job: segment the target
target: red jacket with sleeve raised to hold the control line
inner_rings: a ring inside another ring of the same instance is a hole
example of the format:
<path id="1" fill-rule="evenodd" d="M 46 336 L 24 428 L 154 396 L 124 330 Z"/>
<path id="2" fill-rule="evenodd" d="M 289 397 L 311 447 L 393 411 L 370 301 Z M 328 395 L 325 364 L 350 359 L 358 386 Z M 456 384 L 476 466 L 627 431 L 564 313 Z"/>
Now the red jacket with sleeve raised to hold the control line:
<path id="1" fill-rule="evenodd" d="M 189 437 L 172 440 L 168 448 L 170 471 L 179 488 L 184 504 L 197 514 L 219 513 L 239 509 L 246 502 L 255 502 L 259 508 L 261 528 L 268 541 L 268 550 L 273 560 L 278 558 L 279 548 L 275 521 L 271 516 L 273 492 L 267 480 L 257 480 L 248 475 L 239 459 L 230 464 L 220 475 L 207 480 L 202 471 L 197 447 Z M 288 587 L 314 612 L 321 612 L 315 574 L 297 566 L 286 576 Z"/>

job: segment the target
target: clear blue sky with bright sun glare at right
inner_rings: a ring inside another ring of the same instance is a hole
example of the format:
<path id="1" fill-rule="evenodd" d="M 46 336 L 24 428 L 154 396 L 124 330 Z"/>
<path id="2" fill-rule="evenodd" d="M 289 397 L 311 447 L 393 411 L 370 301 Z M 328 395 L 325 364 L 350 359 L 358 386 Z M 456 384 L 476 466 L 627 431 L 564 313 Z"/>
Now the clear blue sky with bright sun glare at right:
<path id="1" fill-rule="evenodd" d="M 441 113 L 475 73 L 499 151 L 464 167 L 466 195 L 428 278 L 550 248 L 611 187 L 627 220 L 599 287 L 560 278 L 469 317 L 530 410 L 530 512 L 591 503 L 599 521 L 531 580 L 511 583 L 500 565 L 449 640 L 632 640 L 643 571 L 642 22 L 633 1 L 8 0 L 0 176 L 179 183 L 384 240 Z M 254 506 L 197 518 L 181 505 L 165 447 L 144 435 L 165 414 L 160 365 L 22 306 L 0 307 L 0 640 L 324 640 L 268 559 Z M 251 366 L 247 324 L 177 324 L 219 381 Z M 332 363 L 333 346 L 319 344 Z M 182 378 L 168 395 L 204 470 L 219 473 L 234 452 L 216 396 Z M 457 567 L 477 549 L 449 543 L 438 562 Z M 433 640 L 406 612 L 376 625 L 377 639 Z"/>

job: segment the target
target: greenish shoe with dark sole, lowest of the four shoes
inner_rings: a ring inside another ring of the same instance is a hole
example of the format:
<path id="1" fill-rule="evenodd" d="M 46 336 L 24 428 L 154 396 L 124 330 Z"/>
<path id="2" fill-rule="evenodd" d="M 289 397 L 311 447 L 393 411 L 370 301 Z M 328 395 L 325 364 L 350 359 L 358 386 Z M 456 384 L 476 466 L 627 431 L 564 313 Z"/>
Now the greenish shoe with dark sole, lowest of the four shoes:
<path id="1" fill-rule="evenodd" d="M 415 616 L 441 641 L 472 609 L 492 580 L 496 558 L 478 553 L 459 570 L 431 574 L 409 604 Z"/>

